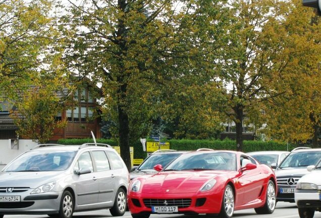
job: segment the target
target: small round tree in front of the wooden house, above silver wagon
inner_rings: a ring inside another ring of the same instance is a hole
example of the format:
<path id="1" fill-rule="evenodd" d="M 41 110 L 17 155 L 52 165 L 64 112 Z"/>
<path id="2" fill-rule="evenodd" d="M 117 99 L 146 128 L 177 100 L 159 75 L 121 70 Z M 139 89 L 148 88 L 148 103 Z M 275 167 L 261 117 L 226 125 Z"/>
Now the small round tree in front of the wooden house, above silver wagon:
<path id="1" fill-rule="evenodd" d="M 57 90 L 48 87 L 31 87 L 25 91 L 16 101 L 19 109 L 12 113 L 18 127 L 17 134 L 41 144 L 48 142 L 56 128 L 67 125 L 66 120 L 56 120 L 64 108 L 61 100 Z"/>

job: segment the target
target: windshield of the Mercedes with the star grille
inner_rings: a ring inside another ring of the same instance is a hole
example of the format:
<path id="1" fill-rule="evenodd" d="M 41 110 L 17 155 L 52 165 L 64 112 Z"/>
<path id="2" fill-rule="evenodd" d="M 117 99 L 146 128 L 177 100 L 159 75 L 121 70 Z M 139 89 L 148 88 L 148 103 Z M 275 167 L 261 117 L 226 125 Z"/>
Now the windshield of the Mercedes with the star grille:
<path id="1" fill-rule="evenodd" d="M 321 158 L 321 151 L 305 151 L 290 153 L 281 163 L 280 168 L 307 167 L 316 165 Z"/>

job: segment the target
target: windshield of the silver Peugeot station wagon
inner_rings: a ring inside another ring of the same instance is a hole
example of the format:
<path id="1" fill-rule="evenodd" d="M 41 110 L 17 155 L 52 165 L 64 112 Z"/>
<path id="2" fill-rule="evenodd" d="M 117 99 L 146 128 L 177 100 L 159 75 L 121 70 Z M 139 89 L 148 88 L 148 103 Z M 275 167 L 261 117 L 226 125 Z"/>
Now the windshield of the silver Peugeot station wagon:
<path id="1" fill-rule="evenodd" d="M 77 151 L 36 150 L 24 153 L 11 162 L 5 172 L 64 171 Z"/>

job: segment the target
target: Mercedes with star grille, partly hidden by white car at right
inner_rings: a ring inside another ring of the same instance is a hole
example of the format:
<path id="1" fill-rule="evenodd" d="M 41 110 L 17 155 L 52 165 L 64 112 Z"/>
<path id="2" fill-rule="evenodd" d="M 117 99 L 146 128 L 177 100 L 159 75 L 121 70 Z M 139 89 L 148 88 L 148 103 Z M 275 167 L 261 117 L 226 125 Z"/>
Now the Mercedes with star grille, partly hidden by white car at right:
<path id="1" fill-rule="evenodd" d="M 291 151 L 275 171 L 278 183 L 277 201 L 294 203 L 294 190 L 298 180 L 309 173 L 306 167 L 315 166 L 319 159 L 321 159 L 321 148 Z"/>

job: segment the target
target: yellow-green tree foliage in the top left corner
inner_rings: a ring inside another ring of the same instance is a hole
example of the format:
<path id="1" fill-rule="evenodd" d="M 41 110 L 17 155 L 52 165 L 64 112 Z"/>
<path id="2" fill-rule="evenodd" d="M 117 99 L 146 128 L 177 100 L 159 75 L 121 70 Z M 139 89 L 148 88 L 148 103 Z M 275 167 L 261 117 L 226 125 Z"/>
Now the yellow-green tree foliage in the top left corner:
<path id="1" fill-rule="evenodd" d="M 51 2 L 4 0 L 0 3 L 1 97 L 17 98 L 17 90 L 37 77 L 57 31 L 49 18 Z"/>

